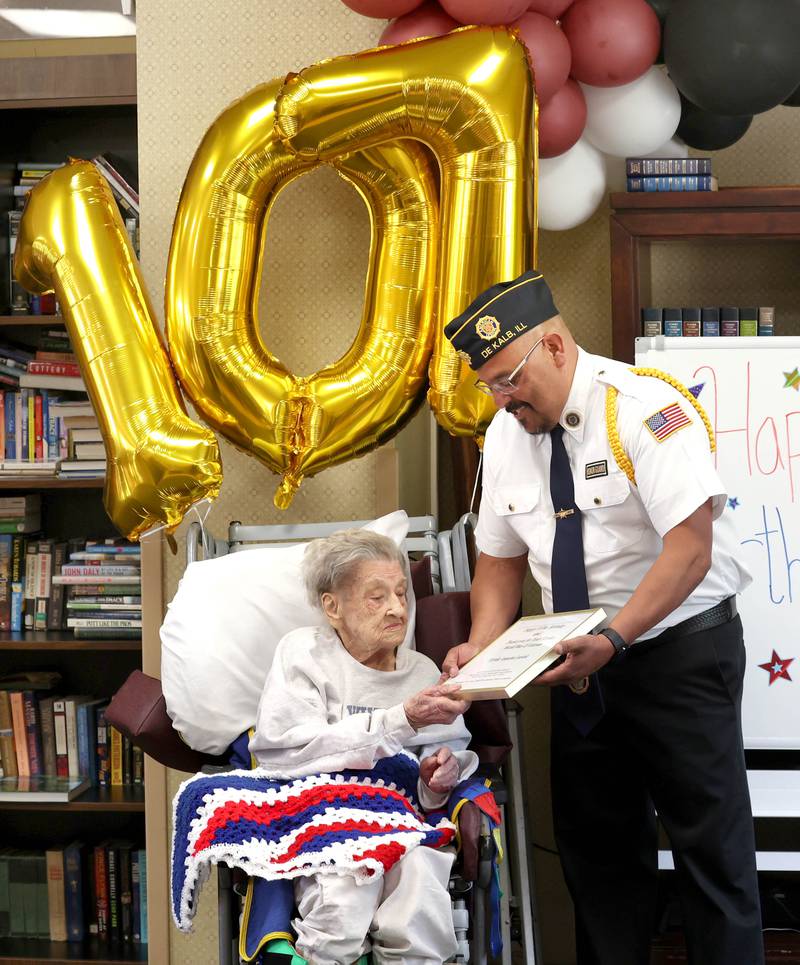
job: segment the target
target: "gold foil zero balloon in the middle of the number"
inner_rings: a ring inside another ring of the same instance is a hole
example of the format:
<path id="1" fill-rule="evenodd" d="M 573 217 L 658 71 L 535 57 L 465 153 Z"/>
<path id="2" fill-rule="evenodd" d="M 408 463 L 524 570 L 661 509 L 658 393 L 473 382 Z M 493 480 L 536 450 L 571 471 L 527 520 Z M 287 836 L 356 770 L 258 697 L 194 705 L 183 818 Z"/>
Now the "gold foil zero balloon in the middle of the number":
<path id="1" fill-rule="evenodd" d="M 338 152 L 334 167 L 364 199 L 372 226 L 361 325 L 338 361 L 305 378 L 289 372 L 257 322 L 266 224 L 280 191 L 320 161 L 276 136 L 282 86 L 264 84 L 227 108 L 192 160 L 167 265 L 166 319 L 182 388 L 209 425 L 282 477 L 275 504 L 286 508 L 304 476 L 384 442 L 423 400 L 436 189 L 431 162 L 410 141 Z"/>

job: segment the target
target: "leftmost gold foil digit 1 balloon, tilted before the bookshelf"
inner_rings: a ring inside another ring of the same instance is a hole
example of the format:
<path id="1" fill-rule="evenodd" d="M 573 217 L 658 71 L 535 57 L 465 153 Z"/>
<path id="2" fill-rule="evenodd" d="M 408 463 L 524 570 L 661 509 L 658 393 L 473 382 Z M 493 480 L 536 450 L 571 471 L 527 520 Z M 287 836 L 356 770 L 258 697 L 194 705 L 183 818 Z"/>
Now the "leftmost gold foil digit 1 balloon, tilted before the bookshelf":
<path id="1" fill-rule="evenodd" d="M 187 415 L 113 195 L 86 161 L 70 161 L 30 192 L 14 274 L 55 290 L 100 423 L 104 503 L 119 531 L 173 529 L 222 481 L 213 433 Z"/>

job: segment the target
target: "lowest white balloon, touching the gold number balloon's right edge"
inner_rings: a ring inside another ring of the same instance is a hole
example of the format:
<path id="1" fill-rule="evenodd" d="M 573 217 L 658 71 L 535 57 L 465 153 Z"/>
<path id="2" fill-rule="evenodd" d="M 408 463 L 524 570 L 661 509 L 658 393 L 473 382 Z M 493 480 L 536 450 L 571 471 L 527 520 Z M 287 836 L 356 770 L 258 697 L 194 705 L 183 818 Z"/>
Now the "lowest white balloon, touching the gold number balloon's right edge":
<path id="1" fill-rule="evenodd" d="M 558 157 L 539 160 L 539 227 L 566 231 L 594 214 L 606 193 L 603 155 L 584 138 Z"/>

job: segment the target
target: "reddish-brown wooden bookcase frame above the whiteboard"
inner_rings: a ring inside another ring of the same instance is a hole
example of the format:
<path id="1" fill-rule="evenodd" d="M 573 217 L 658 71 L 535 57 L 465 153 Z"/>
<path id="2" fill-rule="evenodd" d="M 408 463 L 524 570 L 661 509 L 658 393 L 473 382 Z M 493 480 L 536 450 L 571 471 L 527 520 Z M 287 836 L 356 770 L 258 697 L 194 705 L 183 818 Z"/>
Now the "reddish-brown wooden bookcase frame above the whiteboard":
<path id="1" fill-rule="evenodd" d="M 796 186 L 625 192 L 611 195 L 611 208 L 612 354 L 622 361 L 633 361 L 641 309 L 651 304 L 653 245 L 800 241 Z"/>

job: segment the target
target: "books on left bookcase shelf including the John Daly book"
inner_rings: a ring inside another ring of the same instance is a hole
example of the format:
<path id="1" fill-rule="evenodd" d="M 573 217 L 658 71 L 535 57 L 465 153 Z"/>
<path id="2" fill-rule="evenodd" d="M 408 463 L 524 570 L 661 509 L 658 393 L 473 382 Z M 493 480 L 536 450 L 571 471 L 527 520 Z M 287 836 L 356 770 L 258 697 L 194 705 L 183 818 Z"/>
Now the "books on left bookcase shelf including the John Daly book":
<path id="1" fill-rule="evenodd" d="M 2 497 L 0 504 L 24 501 L 25 516 L 16 525 L 27 526 L 39 498 Z M 142 633 L 141 592 L 137 543 L 0 532 L 0 631 L 72 630 L 77 639 L 136 639 Z"/>

